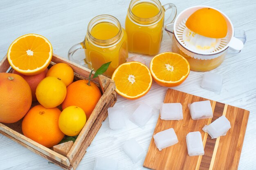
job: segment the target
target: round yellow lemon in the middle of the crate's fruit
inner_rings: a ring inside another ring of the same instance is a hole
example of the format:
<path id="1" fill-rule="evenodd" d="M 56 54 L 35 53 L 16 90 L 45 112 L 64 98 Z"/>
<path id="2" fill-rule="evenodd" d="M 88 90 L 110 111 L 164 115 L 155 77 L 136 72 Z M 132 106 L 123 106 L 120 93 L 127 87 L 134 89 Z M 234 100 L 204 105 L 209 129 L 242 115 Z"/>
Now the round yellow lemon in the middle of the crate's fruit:
<path id="1" fill-rule="evenodd" d="M 57 77 L 45 77 L 36 87 L 36 99 L 45 108 L 60 105 L 67 94 L 67 88 Z"/>

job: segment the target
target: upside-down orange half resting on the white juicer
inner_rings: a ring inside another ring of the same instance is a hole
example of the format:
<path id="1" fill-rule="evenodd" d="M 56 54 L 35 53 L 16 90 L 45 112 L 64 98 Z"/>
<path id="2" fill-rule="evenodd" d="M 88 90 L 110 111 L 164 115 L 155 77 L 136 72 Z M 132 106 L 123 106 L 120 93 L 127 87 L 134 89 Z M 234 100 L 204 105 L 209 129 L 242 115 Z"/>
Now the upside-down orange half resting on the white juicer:
<path id="1" fill-rule="evenodd" d="M 224 38 L 227 35 L 224 16 L 212 8 L 202 8 L 192 13 L 186 20 L 186 26 L 191 31 L 209 38 Z"/>

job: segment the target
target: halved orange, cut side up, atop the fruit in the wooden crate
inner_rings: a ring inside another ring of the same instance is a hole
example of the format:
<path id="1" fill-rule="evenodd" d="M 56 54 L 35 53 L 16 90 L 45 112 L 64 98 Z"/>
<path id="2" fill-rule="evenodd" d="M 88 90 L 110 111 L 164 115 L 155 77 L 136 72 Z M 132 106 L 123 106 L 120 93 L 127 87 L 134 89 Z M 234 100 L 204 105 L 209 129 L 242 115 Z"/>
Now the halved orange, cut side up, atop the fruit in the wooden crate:
<path id="1" fill-rule="evenodd" d="M 43 72 L 52 60 L 52 44 L 42 35 L 26 34 L 13 41 L 7 52 L 11 67 L 23 75 Z"/>

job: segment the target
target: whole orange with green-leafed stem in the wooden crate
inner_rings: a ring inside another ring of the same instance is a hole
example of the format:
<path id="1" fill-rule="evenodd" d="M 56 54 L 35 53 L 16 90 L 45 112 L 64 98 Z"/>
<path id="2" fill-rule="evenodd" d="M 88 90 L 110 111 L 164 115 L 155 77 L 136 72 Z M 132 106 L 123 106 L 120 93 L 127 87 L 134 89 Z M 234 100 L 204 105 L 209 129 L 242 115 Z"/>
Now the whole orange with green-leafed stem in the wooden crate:
<path id="1" fill-rule="evenodd" d="M 78 106 L 85 112 L 88 119 L 97 102 L 101 98 L 101 91 L 94 82 L 87 84 L 88 80 L 78 80 L 67 86 L 67 95 L 62 103 L 62 110 L 68 106 Z"/>

